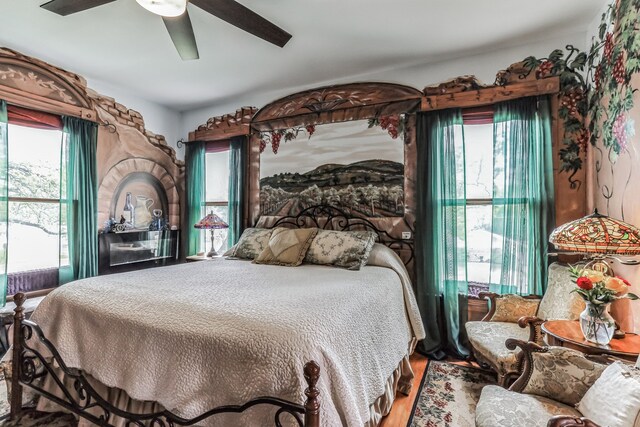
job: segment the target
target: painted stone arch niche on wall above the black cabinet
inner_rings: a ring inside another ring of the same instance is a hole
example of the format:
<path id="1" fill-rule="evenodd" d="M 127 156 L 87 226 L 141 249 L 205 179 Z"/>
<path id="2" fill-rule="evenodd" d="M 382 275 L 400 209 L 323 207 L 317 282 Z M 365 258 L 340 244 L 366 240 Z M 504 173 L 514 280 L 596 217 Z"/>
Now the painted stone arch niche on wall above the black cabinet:
<path id="1" fill-rule="evenodd" d="M 134 206 L 161 209 L 171 225 L 179 224 L 180 196 L 175 180 L 162 165 L 137 157 L 115 164 L 102 179 L 98 188 L 99 226 L 109 218 L 119 220 L 127 193 L 132 194 Z"/>

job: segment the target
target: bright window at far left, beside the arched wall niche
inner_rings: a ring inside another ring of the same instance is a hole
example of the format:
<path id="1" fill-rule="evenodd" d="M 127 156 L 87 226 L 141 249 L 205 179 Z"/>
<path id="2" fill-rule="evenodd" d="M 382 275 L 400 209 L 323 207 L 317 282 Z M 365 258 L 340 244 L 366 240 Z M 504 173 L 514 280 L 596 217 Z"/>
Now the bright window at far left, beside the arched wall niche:
<path id="1" fill-rule="evenodd" d="M 60 238 L 62 132 L 9 124 L 8 136 L 7 272 L 57 269 L 67 252 Z"/>

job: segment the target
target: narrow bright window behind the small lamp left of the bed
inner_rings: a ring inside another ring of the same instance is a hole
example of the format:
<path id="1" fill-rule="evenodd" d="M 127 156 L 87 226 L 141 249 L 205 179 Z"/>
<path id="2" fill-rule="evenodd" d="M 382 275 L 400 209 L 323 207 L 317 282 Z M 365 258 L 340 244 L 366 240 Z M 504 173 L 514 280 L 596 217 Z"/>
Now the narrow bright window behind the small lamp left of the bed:
<path id="1" fill-rule="evenodd" d="M 210 151 L 210 150 L 207 150 Z M 206 165 L 206 185 L 205 185 L 205 210 L 206 213 L 213 212 L 229 223 L 229 150 L 216 150 L 205 154 Z M 219 254 L 228 249 L 227 229 L 215 230 L 214 248 Z M 202 233 L 201 248 L 207 253 L 211 249 L 211 233 Z"/>

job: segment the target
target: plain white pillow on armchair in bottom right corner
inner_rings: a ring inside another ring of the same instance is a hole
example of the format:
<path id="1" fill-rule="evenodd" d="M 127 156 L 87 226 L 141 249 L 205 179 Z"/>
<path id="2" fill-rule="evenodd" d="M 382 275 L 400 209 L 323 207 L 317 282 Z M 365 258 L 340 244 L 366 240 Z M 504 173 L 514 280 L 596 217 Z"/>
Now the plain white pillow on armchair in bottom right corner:
<path id="1" fill-rule="evenodd" d="M 615 362 L 578 403 L 585 418 L 607 427 L 640 426 L 640 370 Z"/>

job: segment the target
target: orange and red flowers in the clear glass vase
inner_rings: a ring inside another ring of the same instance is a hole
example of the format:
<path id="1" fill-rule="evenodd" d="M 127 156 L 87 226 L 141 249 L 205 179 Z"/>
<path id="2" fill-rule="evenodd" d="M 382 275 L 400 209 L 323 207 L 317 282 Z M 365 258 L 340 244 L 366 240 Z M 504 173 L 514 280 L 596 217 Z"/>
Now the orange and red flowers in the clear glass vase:
<path id="1" fill-rule="evenodd" d="M 638 299 L 636 294 L 629 292 L 631 283 L 620 276 L 610 276 L 601 271 L 570 267 L 571 276 L 576 282 L 575 292 L 585 302 L 601 305 L 615 300 L 627 298 Z"/>

